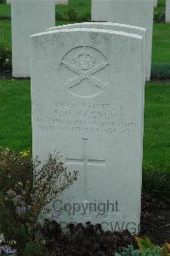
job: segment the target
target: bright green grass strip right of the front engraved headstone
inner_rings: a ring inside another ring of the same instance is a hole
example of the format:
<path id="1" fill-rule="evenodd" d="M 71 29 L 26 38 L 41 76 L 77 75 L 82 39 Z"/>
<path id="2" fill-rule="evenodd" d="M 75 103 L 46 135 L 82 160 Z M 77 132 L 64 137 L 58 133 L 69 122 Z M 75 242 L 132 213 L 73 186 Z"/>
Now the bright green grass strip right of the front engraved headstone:
<path id="1" fill-rule="evenodd" d="M 144 170 L 170 170 L 170 83 L 147 83 L 144 111 Z"/>

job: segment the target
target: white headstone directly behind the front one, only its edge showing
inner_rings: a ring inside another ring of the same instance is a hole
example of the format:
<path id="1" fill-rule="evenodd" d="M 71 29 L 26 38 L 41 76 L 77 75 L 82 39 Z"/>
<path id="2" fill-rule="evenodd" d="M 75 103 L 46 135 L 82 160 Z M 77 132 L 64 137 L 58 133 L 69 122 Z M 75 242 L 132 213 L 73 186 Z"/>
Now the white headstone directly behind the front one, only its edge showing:
<path id="1" fill-rule="evenodd" d="M 145 54 L 146 49 L 146 41 L 145 41 L 145 34 L 146 29 L 144 27 L 139 26 L 130 26 L 126 24 L 120 23 L 111 23 L 111 22 L 83 22 L 83 23 L 74 23 L 68 24 L 63 26 L 54 26 L 47 29 L 47 31 L 54 31 L 54 30 L 61 30 L 61 29 L 71 29 L 71 28 L 99 28 L 99 29 L 106 29 L 106 30 L 115 30 L 127 33 L 134 33 L 139 34 L 143 37 L 143 49 L 144 49 L 144 60 L 147 61 L 147 56 Z"/>

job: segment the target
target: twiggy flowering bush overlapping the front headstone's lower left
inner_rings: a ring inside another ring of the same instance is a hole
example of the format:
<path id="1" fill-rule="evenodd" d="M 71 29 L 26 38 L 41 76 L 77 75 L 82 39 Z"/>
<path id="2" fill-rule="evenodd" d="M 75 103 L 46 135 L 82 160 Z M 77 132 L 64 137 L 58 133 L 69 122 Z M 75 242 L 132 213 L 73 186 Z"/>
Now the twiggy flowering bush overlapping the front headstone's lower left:
<path id="1" fill-rule="evenodd" d="M 33 173 L 35 168 L 37 172 Z M 31 160 L 29 150 L 15 154 L 0 148 L 0 233 L 6 241 L 16 241 L 14 247 L 21 253 L 35 238 L 42 207 L 76 179 L 77 172 L 68 173 L 59 154 L 49 155 L 40 166 L 40 161 Z"/>

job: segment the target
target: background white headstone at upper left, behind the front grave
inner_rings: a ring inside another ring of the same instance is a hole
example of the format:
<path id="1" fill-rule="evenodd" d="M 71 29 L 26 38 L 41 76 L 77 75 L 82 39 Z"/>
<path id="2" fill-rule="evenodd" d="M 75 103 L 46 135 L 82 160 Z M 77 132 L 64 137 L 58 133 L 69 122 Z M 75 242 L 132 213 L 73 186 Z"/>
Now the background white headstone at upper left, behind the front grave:
<path id="1" fill-rule="evenodd" d="M 53 0 L 14 0 L 12 15 L 13 76 L 30 76 L 29 37 L 55 24 Z"/>

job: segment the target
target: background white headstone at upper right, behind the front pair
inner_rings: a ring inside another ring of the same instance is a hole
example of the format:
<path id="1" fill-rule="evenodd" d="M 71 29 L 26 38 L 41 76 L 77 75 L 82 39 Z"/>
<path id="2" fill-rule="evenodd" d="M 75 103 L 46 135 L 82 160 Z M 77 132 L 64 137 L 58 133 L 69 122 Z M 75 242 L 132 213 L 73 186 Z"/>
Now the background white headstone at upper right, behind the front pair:
<path id="1" fill-rule="evenodd" d="M 100 9 L 105 3 L 108 11 Z M 105 21 L 123 23 L 146 28 L 146 80 L 150 80 L 151 52 L 152 52 L 152 30 L 153 30 L 153 0 L 93 0 L 92 20 L 100 20 L 100 11 L 103 12 Z"/>

